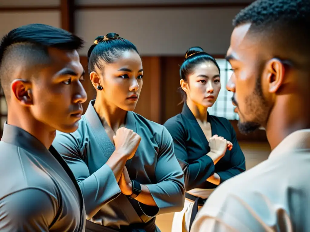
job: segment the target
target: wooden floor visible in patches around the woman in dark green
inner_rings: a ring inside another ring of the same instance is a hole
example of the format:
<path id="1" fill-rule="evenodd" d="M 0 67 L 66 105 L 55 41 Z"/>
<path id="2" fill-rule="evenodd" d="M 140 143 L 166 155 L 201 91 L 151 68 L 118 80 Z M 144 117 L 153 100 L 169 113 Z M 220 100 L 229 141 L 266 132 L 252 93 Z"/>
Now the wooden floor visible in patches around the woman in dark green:
<path id="1" fill-rule="evenodd" d="M 267 143 L 239 143 L 246 157 L 246 169 L 259 164 L 268 158 L 270 147 Z M 156 224 L 162 232 L 171 232 L 173 213 L 156 217 Z"/>

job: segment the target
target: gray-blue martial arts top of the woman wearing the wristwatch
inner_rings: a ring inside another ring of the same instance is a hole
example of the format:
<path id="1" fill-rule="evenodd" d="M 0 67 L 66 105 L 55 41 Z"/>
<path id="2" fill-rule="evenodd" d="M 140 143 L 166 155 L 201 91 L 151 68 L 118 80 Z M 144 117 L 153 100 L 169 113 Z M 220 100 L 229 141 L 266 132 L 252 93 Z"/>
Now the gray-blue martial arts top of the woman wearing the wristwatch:
<path id="1" fill-rule="evenodd" d="M 126 128 L 140 135 L 141 142 L 126 167 L 131 179 L 148 187 L 158 207 L 147 206 L 121 194 L 113 171 L 105 164 L 115 147 L 95 112 L 94 102 L 90 102 L 77 131 L 70 134 L 57 131 L 53 142 L 82 189 L 88 219 L 129 232 L 135 231 L 131 229 L 135 226 L 129 228 L 128 225 L 138 223 L 139 227 L 150 220 L 155 223 L 157 214 L 181 211 L 184 174 L 167 129 L 139 114 L 127 112 Z"/>

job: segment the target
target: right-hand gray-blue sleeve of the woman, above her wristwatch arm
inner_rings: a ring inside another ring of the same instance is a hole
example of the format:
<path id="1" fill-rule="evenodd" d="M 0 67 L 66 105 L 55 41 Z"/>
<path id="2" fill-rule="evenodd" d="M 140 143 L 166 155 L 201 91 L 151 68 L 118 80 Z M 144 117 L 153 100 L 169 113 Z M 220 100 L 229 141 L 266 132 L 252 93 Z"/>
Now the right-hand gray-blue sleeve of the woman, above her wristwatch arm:
<path id="1" fill-rule="evenodd" d="M 163 127 L 159 145 L 155 168 L 157 183 L 147 184 L 146 186 L 159 208 L 158 214 L 179 212 L 184 206 L 184 173 L 175 157 L 173 140 L 166 127 Z M 149 215 L 146 209 L 150 207 L 142 203 L 139 204 L 144 213 Z M 154 212 L 153 209 L 150 211 Z"/>

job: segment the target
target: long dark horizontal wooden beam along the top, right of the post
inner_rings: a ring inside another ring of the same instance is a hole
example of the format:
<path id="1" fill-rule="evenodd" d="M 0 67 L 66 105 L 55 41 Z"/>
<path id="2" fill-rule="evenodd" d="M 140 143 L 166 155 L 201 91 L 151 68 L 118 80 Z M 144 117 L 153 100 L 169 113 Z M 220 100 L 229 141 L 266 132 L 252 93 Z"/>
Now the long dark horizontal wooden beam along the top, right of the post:
<path id="1" fill-rule="evenodd" d="M 246 7 L 251 2 L 223 2 L 223 3 L 170 3 L 170 4 L 109 4 L 109 5 L 79 5 L 78 10 L 131 10 L 156 8 L 230 8 Z"/>

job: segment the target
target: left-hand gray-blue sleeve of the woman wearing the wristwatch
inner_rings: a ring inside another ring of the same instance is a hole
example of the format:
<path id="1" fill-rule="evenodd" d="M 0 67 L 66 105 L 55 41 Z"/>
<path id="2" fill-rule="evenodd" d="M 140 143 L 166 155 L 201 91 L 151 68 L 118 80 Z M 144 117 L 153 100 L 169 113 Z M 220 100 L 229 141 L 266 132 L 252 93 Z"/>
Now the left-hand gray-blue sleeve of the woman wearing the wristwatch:
<path id="1" fill-rule="evenodd" d="M 88 140 L 88 139 L 87 139 Z M 72 134 L 57 131 L 52 144 L 72 170 L 85 202 L 86 219 L 92 218 L 104 205 L 121 194 L 113 171 L 103 165 L 90 175 L 82 146 Z"/>

